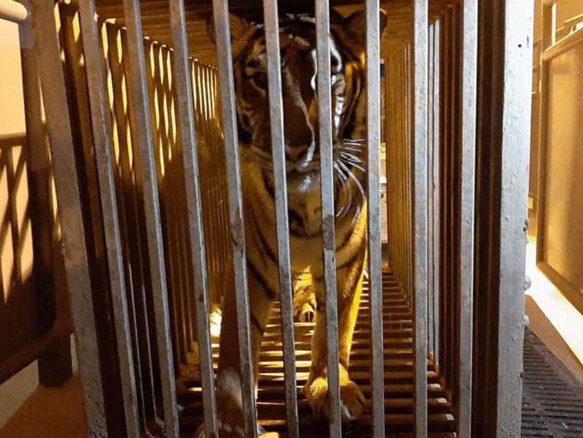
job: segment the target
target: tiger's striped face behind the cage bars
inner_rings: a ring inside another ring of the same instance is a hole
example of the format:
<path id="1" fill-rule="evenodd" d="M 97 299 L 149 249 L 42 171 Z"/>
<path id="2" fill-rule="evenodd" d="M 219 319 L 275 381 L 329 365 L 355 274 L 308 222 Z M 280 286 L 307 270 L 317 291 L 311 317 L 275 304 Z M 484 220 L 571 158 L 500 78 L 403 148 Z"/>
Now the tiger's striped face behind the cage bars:
<path id="1" fill-rule="evenodd" d="M 233 76 L 242 156 L 271 169 L 267 49 L 262 24 L 232 15 Z M 381 11 L 381 33 L 386 15 Z M 332 135 L 335 159 L 361 160 L 366 126 L 365 14 L 330 20 Z M 280 59 L 287 177 L 319 169 L 316 22 L 313 15 L 280 17 Z M 212 35 L 213 30 L 209 29 Z M 344 147 L 346 146 L 346 147 Z"/>

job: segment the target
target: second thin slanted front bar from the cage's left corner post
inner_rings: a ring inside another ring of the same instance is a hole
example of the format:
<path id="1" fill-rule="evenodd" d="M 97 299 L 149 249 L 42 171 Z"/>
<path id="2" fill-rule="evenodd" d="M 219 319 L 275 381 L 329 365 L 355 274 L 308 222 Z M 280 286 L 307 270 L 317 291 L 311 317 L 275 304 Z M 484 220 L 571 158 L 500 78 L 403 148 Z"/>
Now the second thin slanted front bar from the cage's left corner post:
<path id="1" fill-rule="evenodd" d="M 124 15 L 128 32 L 130 71 L 133 77 L 131 83 L 133 106 L 138 124 L 137 144 L 140 149 L 139 161 L 142 167 L 142 187 L 144 191 L 144 210 L 146 211 L 146 233 L 151 266 L 157 352 L 160 363 L 160 379 L 162 381 L 164 422 L 166 423 L 166 437 L 170 438 L 178 437 L 178 410 L 170 339 L 166 269 L 164 267 L 164 250 L 160 227 L 160 202 L 153 155 L 152 126 L 149 117 L 150 103 L 146 89 L 146 63 L 140 18 L 140 2 L 138 0 L 124 0 Z"/>

